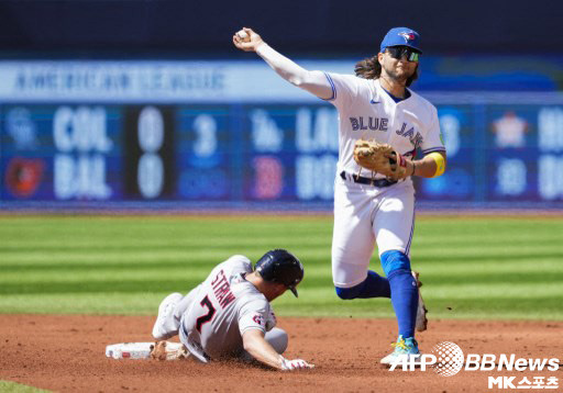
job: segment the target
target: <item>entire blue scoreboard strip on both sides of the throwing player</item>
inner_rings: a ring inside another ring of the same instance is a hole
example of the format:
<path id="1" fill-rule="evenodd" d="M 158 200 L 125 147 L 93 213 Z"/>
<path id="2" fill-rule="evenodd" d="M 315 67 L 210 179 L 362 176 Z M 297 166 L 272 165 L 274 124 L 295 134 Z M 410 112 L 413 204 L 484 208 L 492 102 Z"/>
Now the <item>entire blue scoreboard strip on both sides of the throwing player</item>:
<path id="1" fill-rule="evenodd" d="M 481 120 L 471 105 L 438 108 L 448 170 L 418 180 L 419 199 L 563 200 L 563 106 L 488 105 Z M 327 104 L 12 104 L 1 113 L 4 201 L 332 200 L 338 114 Z"/>

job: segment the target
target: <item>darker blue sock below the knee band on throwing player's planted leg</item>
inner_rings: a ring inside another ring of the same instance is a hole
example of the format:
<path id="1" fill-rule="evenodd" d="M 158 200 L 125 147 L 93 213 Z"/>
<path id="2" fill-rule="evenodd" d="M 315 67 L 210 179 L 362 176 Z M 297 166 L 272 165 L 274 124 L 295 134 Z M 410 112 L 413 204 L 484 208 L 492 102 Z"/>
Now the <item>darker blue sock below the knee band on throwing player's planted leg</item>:
<path id="1" fill-rule="evenodd" d="M 391 303 L 399 325 L 399 335 L 415 337 L 417 322 L 418 288 L 410 270 L 394 270 L 388 276 L 391 288 Z"/>

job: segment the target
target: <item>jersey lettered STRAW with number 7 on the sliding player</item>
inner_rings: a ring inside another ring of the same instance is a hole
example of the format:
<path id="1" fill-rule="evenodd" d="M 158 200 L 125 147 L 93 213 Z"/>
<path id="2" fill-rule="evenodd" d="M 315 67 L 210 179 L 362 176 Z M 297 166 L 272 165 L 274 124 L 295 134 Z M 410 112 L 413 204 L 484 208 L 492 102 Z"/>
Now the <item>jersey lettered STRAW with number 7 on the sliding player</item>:
<path id="1" fill-rule="evenodd" d="M 269 302 L 244 276 L 252 272 L 249 258 L 235 255 L 218 265 L 198 287 L 181 317 L 179 336 L 201 361 L 240 356 L 242 335 L 264 334 L 276 325 Z"/>

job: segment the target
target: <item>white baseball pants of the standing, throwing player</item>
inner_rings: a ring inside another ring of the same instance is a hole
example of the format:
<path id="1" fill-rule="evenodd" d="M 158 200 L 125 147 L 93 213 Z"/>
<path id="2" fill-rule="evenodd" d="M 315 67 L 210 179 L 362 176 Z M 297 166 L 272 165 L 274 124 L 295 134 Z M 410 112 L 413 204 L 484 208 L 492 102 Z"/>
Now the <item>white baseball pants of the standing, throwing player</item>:
<path id="1" fill-rule="evenodd" d="M 376 188 L 336 176 L 332 279 L 335 287 L 351 288 L 367 277 L 377 243 L 379 256 L 399 250 L 407 256 L 415 228 L 415 188 L 407 179 Z"/>

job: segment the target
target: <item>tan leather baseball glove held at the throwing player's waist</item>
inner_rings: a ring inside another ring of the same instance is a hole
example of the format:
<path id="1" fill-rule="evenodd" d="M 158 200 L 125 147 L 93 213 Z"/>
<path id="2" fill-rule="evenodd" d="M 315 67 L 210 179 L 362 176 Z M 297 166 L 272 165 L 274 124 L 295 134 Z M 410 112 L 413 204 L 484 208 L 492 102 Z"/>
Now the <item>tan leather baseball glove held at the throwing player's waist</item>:
<path id="1" fill-rule="evenodd" d="M 354 145 L 354 160 L 362 168 L 382 173 L 393 180 L 407 177 L 407 161 L 390 145 L 358 139 Z"/>

